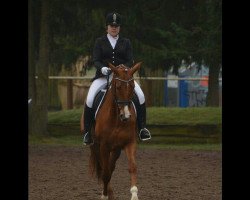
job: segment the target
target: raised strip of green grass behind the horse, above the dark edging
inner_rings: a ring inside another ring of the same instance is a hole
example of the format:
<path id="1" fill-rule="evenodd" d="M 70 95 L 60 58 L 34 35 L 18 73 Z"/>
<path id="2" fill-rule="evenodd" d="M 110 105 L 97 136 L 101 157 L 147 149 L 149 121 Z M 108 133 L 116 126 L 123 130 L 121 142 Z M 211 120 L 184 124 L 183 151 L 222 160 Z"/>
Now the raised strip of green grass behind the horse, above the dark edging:
<path id="1" fill-rule="evenodd" d="M 79 124 L 82 109 L 49 112 L 48 120 L 51 124 Z M 221 107 L 148 107 L 147 124 L 221 124 Z"/>

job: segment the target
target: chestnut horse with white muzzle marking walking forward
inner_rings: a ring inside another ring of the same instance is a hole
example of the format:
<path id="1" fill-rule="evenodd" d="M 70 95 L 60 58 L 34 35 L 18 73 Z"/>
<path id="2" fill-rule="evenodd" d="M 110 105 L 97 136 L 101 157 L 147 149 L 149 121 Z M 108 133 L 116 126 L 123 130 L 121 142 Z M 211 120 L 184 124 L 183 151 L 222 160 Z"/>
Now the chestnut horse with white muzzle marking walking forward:
<path id="1" fill-rule="evenodd" d="M 120 157 L 121 151 L 124 150 L 131 177 L 131 200 L 138 200 L 135 161 L 137 126 L 132 98 L 135 87 L 133 74 L 140 66 L 141 62 L 132 68 L 124 65 L 115 67 L 109 64 L 113 72 L 113 79 L 96 115 L 93 131 L 94 144 L 90 146 L 91 173 L 93 175 L 95 172 L 98 180 L 103 183 L 101 199 L 114 199 L 110 180 L 116 161 Z"/>

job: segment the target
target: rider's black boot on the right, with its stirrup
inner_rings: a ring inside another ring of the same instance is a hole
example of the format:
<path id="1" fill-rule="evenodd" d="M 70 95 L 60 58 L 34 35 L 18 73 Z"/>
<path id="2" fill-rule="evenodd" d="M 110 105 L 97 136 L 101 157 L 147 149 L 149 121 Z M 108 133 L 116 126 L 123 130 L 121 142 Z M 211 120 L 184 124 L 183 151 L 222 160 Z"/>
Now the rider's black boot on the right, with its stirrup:
<path id="1" fill-rule="evenodd" d="M 133 102 L 136 107 L 137 113 L 137 125 L 138 125 L 138 136 L 142 141 L 151 139 L 151 135 L 148 129 L 146 129 L 146 105 L 145 103 L 140 104 L 139 99 L 136 95 L 133 97 Z"/>

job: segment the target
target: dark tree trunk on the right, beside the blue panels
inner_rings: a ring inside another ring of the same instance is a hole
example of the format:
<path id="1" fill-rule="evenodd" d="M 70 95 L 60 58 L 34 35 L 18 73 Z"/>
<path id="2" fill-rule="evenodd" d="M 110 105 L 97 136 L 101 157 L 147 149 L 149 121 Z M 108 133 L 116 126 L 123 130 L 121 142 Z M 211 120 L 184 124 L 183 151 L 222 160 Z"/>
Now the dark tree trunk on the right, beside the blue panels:
<path id="1" fill-rule="evenodd" d="M 219 65 L 209 67 L 207 106 L 219 106 Z"/>

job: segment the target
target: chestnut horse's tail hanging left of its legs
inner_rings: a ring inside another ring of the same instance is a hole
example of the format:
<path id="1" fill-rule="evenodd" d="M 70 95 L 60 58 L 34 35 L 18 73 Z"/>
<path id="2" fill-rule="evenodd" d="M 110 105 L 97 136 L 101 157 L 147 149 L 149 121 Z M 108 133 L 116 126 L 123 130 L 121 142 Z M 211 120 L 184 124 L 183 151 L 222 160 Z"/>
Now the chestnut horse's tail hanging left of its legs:
<path id="1" fill-rule="evenodd" d="M 100 165 L 100 145 L 94 143 L 90 146 L 89 170 L 92 176 L 96 176 L 98 181 L 101 178 L 101 165 Z"/>

